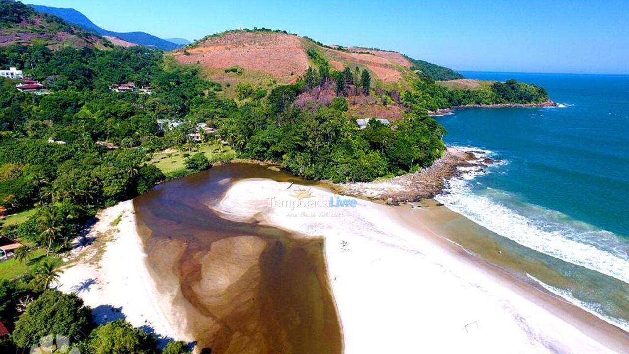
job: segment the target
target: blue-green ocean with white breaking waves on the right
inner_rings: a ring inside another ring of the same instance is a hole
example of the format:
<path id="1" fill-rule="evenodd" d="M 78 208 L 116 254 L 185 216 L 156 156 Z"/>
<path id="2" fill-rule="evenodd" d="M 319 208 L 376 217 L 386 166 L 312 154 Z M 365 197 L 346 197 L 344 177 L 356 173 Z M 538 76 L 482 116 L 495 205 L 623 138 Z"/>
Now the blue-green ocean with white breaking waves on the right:
<path id="1" fill-rule="evenodd" d="M 562 107 L 437 117 L 447 144 L 501 163 L 436 199 L 559 275 L 530 279 L 629 331 L 629 76 L 461 73 L 543 86 Z"/>

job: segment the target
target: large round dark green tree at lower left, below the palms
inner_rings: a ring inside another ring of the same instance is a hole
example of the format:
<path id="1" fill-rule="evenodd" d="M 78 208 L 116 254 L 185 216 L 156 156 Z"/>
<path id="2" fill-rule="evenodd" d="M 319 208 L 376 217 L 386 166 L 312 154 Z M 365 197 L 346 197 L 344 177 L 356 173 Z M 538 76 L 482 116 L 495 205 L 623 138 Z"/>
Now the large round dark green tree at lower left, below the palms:
<path id="1" fill-rule="evenodd" d="M 48 335 L 81 337 L 89 333 L 91 321 L 91 311 L 83 307 L 83 301 L 76 295 L 46 290 L 26 306 L 15 323 L 11 340 L 19 348 L 25 348 Z"/>

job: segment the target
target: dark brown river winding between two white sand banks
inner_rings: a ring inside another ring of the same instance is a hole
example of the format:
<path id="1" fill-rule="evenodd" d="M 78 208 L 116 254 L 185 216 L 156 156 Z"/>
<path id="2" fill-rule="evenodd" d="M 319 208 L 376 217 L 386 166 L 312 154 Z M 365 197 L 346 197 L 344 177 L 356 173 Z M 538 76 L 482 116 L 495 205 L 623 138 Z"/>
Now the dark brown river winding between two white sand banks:
<path id="1" fill-rule="evenodd" d="M 138 232 L 160 292 L 212 353 L 342 353 L 324 241 L 235 222 L 209 207 L 232 183 L 309 184 L 253 164 L 169 181 L 134 200 Z"/>

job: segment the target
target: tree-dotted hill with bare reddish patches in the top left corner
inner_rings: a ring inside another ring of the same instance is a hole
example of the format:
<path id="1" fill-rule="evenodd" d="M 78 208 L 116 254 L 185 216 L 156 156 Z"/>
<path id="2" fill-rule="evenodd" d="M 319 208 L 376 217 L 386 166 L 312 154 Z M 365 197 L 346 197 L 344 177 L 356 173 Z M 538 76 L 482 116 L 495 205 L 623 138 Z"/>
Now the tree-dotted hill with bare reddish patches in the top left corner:
<path id="1" fill-rule="evenodd" d="M 111 47 L 104 38 L 69 25 L 61 18 L 37 13 L 22 3 L 0 0 L 0 46 L 19 43 L 49 47 Z"/>

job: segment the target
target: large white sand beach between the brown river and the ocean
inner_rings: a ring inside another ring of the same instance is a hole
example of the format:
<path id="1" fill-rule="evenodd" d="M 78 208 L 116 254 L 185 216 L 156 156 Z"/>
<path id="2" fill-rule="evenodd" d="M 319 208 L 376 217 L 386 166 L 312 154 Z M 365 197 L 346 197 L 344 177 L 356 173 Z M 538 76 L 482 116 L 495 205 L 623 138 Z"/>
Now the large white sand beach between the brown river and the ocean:
<path id="1" fill-rule="evenodd" d="M 490 266 L 469 261 L 458 246 L 444 246 L 425 226 L 396 215 L 394 207 L 351 197 L 341 198 L 356 200 L 355 208 L 277 207 L 297 202 L 291 194 L 298 188 L 310 189 L 289 186 L 239 181 L 211 207 L 228 219 L 255 219 L 325 238 L 347 354 L 623 352 L 626 338 L 610 344 L 595 333 L 598 324 L 584 330 L 568 320 L 571 305 L 561 304 L 568 310 L 556 312 L 556 306 L 532 300 L 521 290 L 528 285 L 514 285 Z M 299 201 L 325 203 L 336 196 L 316 187 L 310 193 Z"/>

